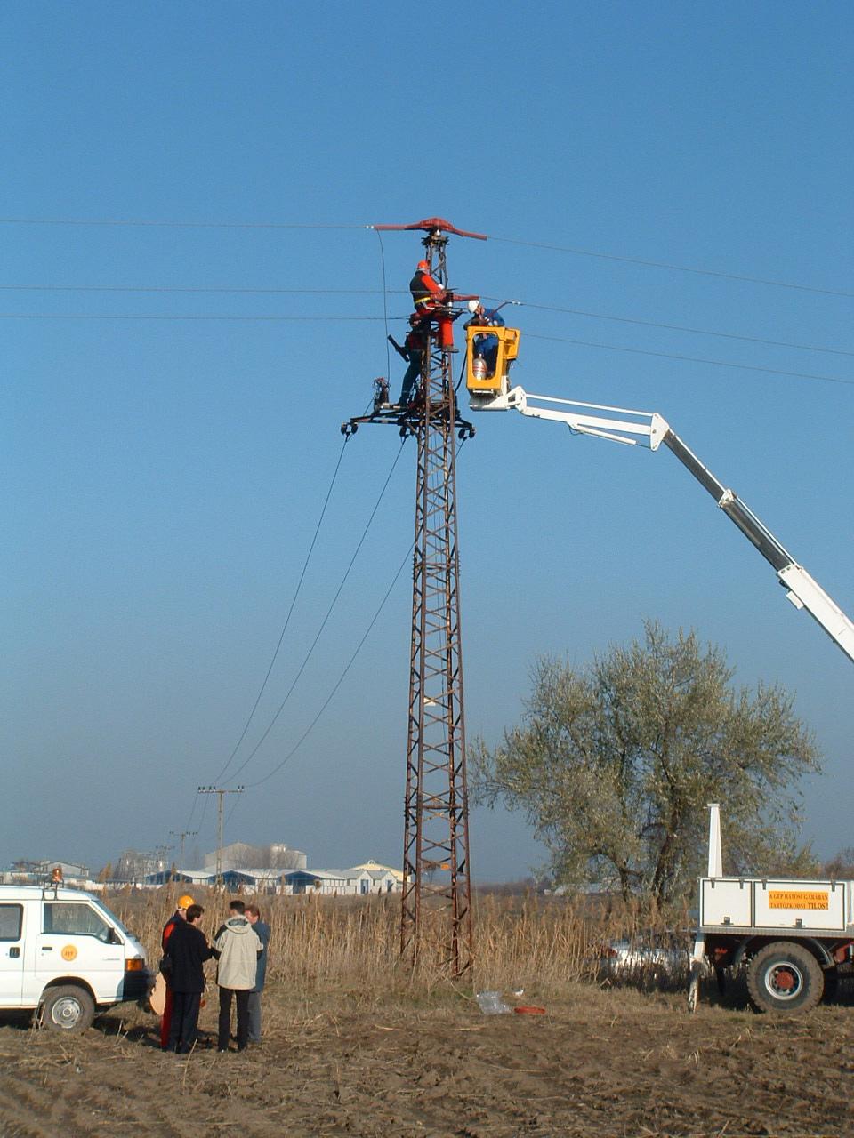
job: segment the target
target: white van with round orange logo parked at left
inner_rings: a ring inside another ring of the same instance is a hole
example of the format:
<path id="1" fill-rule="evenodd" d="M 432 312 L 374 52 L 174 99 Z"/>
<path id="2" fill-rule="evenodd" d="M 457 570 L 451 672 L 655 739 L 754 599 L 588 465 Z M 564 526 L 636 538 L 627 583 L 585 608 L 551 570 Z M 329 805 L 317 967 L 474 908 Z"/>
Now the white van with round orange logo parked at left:
<path id="1" fill-rule="evenodd" d="M 0 1013 L 33 1008 L 42 1025 L 83 1031 L 113 1004 L 143 999 L 146 950 L 97 897 L 0 885 Z"/>

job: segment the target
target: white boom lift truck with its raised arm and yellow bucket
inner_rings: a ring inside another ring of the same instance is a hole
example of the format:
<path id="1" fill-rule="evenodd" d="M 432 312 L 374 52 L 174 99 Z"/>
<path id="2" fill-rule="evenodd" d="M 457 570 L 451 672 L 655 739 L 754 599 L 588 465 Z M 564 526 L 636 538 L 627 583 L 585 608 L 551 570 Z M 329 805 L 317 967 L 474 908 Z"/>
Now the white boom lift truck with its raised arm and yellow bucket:
<path id="1" fill-rule="evenodd" d="M 492 341 L 488 366 L 478 351 L 486 336 L 498 338 L 498 352 Z M 469 324 L 466 338 L 471 411 L 518 411 L 565 423 L 573 434 L 629 446 L 642 443 L 651 451 L 664 444 L 770 562 L 788 600 L 805 609 L 854 660 L 854 622 L 662 415 L 511 387 L 509 372 L 518 355 L 519 330 Z M 705 968 L 713 968 L 722 982 L 722 970 L 740 964 L 746 965 L 750 1001 L 757 1011 L 796 1014 L 814 1007 L 824 992 L 835 990 L 840 976 L 854 975 L 854 882 L 725 877 L 717 805 L 711 810 L 708 876 L 700 879 L 689 1007 L 697 1006 Z"/>

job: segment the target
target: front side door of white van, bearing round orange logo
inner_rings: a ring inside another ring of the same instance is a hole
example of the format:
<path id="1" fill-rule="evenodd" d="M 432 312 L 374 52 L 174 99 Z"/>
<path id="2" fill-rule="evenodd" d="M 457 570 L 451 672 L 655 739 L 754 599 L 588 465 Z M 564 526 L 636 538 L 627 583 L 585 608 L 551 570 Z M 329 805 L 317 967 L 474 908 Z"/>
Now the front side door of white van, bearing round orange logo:
<path id="1" fill-rule="evenodd" d="M 46 898 L 35 971 L 41 988 L 57 976 L 80 976 L 98 1003 L 110 1003 L 122 996 L 124 943 L 93 905 Z"/>

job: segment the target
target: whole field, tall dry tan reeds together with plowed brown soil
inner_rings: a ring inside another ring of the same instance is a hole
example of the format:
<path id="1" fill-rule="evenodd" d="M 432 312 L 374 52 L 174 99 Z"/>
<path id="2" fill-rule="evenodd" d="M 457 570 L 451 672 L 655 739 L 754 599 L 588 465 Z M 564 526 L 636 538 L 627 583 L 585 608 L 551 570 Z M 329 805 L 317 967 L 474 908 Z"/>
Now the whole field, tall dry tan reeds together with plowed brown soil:
<path id="1" fill-rule="evenodd" d="M 174 890 L 109 906 L 159 956 Z M 196 898 L 212 933 L 228 897 Z M 736 988 L 685 1011 L 682 980 L 615 984 L 599 948 L 638 914 L 551 898 L 476 899 L 477 971 L 454 983 L 399 960 L 400 898 L 258 898 L 272 927 L 261 1046 L 217 1055 L 211 967 L 200 1039 L 163 1054 L 120 1007 L 79 1037 L 0 1026 L 0 1138 L 155 1136 L 726 1136 L 854 1132 L 854 1007 L 802 1020 Z M 679 922 L 674 922 L 679 925 Z M 681 926 L 681 925 L 679 925 Z M 544 1015 L 483 1015 L 475 990 Z M 524 996 L 512 992 L 524 988 Z"/>

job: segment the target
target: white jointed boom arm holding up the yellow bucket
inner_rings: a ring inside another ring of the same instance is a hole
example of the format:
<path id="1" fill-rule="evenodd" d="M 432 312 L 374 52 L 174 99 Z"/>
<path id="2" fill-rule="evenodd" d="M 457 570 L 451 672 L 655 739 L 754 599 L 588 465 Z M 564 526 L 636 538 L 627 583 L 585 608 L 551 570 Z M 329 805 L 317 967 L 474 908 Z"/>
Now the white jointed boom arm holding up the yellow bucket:
<path id="1" fill-rule="evenodd" d="M 786 588 L 786 596 L 795 608 L 806 609 L 848 659 L 854 660 L 854 622 L 806 569 L 783 549 L 734 490 L 728 489 L 703 465 L 697 455 L 671 430 L 670 424 L 656 411 L 630 411 L 626 407 L 558 399 L 549 395 L 531 395 L 522 387 L 514 387 L 507 394 L 494 397 L 473 395 L 470 405 L 473 411 L 519 411 L 532 419 L 550 419 L 566 423 L 574 434 L 594 435 L 627 446 L 635 446 L 640 442 L 651 451 L 657 451 L 664 443 L 770 562 L 780 584 Z"/>

